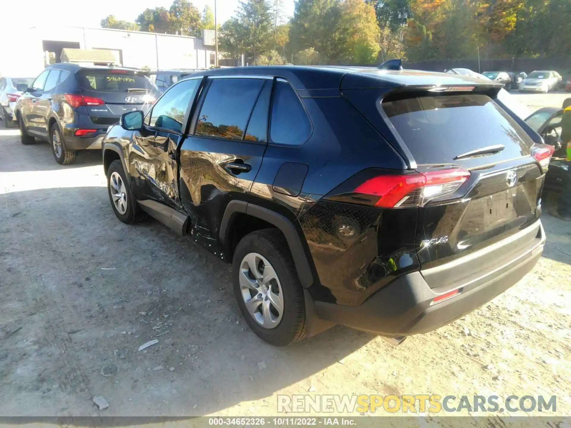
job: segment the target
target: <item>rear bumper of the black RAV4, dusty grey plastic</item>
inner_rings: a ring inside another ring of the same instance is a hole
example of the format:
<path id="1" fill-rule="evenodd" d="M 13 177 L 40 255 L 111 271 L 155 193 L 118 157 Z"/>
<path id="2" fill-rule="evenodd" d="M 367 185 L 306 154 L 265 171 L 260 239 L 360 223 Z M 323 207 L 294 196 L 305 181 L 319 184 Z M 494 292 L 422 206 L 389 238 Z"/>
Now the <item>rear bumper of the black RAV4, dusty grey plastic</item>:
<path id="1" fill-rule="evenodd" d="M 484 305 L 516 284 L 533 269 L 545 244 L 545 232 L 541 221 L 538 220 L 518 233 L 537 233 L 537 236 L 532 245 L 516 252 L 509 261 L 502 261 L 490 269 L 480 270 L 474 277 L 463 278 L 462 283 L 455 286 L 460 293 L 448 300 L 431 305 L 433 298 L 445 291 L 439 292 L 439 288 L 430 288 L 421 270 L 398 277 L 360 306 L 343 306 L 317 301 L 315 314 L 325 321 L 385 337 L 430 332 Z M 465 261 L 470 264 L 479 262 L 477 257 L 470 257 Z M 450 269 L 457 269 L 459 260 L 453 263 Z M 439 270 L 445 277 L 447 265 L 439 267 Z"/>

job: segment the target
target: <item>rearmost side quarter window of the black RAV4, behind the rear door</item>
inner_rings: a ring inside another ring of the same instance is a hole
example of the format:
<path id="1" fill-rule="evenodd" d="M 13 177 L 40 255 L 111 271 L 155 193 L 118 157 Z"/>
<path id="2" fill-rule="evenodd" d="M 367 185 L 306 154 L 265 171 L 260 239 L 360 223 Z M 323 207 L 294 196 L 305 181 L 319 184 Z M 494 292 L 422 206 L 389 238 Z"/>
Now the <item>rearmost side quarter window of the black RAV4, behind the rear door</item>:
<path id="1" fill-rule="evenodd" d="M 311 122 L 295 90 L 278 80 L 274 90 L 270 139 L 272 143 L 299 146 L 311 135 Z"/>

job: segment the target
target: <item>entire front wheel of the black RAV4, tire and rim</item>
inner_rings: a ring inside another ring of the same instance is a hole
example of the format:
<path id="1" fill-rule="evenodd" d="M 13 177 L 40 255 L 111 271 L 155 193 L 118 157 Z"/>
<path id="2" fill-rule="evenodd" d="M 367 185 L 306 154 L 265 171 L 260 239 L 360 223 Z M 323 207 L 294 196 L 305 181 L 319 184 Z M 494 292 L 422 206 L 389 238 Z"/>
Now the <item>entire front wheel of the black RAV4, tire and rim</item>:
<path id="1" fill-rule="evenodd" d="M 128 185 L 127 177 L 123 171 L 123 164 L 120 160 L 114 160 L 107 169 L 107 193 L 111 208 L 119 220 L 126 224 L 136 224 L 147 219 L 146 213 L 140 209 L 130 185 Z M 116 195 L 123 194 L 121 197 L 123 204 L 115 204 L 119 198 Z M 123 208 L 124 207 L 124 212 Z"/>

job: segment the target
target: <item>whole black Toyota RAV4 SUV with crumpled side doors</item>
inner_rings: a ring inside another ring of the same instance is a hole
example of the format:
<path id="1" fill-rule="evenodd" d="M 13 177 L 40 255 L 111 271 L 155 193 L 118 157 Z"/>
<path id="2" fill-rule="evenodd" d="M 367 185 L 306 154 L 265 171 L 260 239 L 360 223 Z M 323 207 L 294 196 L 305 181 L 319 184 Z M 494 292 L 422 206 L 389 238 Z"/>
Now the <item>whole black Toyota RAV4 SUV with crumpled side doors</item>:
<path id="1" fill-rule="evenodd" d="M 274 345 L 343 324 L 443 326 L 541 256 L 553 152 L 489 80 L 351 67 L 192 75 L 103 142 L 111 207 L 233 264 Z"/>

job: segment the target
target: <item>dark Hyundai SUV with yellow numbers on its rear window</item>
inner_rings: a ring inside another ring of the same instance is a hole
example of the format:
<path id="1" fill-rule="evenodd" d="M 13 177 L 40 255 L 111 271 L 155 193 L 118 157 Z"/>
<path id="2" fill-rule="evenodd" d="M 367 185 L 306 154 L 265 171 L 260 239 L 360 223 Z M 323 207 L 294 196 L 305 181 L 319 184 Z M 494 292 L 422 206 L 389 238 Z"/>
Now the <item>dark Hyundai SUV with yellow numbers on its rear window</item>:
<path id="1" fill-rule="evenodd" d="M 119 67 L 47 66 L 14 106 L 22 144 L 51 142 L 55 160 L 75 161 L 77 150 L 100 149 L 107 128 L 124 112 L 146 111 L 160 94 L 142 72 Z"/>

